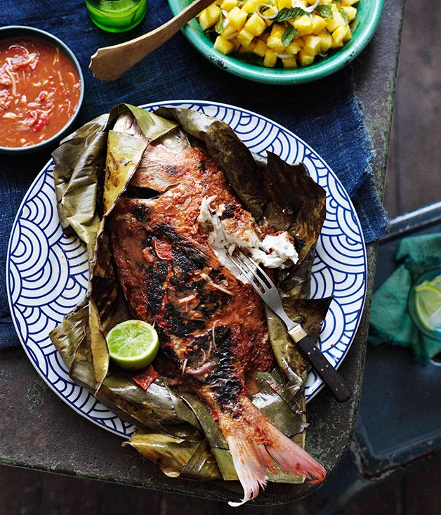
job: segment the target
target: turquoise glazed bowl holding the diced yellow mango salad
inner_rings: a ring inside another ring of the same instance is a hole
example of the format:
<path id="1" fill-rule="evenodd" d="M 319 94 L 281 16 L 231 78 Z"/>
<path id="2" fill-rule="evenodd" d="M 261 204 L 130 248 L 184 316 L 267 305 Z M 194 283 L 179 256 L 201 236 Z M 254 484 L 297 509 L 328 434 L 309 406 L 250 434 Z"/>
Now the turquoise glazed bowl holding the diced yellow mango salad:
<path id="1" fill-rule="evenodd" d="M 168 1 L 173 15 L 177 15 L 191 4 L 191 0 Z M 331 51 L 326 58 L 318 58 L 316 63 L 291 70 L 264 68 L 224 56 L 223 53 L 213 49 L 213 43 L 206 37 L 196 18 L 185 25 L 183 33 L 204 57 L 226 72 L 266 84 L 302 84 L 327 77 L 355 59 L 374 35 L 379 25 L 383 4 L 384 0 L 360 0 L 360 4 L 357 4 L 357 18 L 360 23 L 353 34 L 353 39 L 350 39 L 343 48 Z"/>

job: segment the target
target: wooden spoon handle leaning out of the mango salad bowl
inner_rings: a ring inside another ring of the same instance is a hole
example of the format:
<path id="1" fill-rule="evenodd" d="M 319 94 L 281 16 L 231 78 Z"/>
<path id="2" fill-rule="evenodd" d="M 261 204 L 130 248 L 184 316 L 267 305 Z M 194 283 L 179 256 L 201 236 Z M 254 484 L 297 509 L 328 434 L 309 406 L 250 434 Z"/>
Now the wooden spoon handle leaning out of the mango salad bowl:
<path id="1" fill-rule="evenodd" d="M 213 0 L 195 0 L 170 21 L 143 36 L 119 45 L 98 48 L 88 65 L 93 76 L 105 81 L 114 81 L 121 77 L 133 65 L 168 41 L 210 4 L 213 4 Z"/>

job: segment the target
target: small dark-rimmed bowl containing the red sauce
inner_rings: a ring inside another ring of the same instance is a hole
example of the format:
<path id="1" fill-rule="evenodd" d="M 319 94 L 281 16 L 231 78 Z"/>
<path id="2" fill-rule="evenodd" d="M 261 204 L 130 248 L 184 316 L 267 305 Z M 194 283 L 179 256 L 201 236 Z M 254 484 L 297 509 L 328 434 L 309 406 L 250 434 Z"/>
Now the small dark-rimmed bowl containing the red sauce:
<path id="1" fill-rule="evenodd" d="M 58 46 L 58 48 L 60 48 L 60 50 L 62 50 L 70 58 L 72 63 L 74 63 L 75 67 L 77 68 L 79 82 L 81 84 L 81 93 L 77 105 L 77 110 L 74 112 L 69 122 L 67 122 L 67 124 L 65 124 L 65 126 L 62 129 L 60 129 L 60 131 L 58 131 L 58 133 L 54 134 L 53 136 L 51 136 L 51 138 L 45 141 L 41 141 L 41 143 L 37 143 L 36 145 L 30 145 L 29 147 L 2 147 L 0 145 L 1 154 L 18 155 L 25 154 L 27 152 L 34 152 L 36 150 L 41 150 L 42 148 L 48 145 L 51 145 L 51 143 L 54 143 L 55 141 L 59 141 L 61 139 L 61 136 L 70 129 L 75 119 L 77 118 L 79 110 L 81 109 L 81 104 L 83 103 L 84 99 L 83 72 L 81 72 L 81 67 L 79 65 L 77 58 L 74 56 L 74 53 L 66 44 L 64 44 L 60 39 L 58 39 L 58 37 L 49 34 L 49 32 L 40 29 L 35 29 L 34 27 L 25 27 L 22 25 L 8 25 L 7 27 L 0 27 L 0 39 L 6 39 L 17 36 L 41 39 L 42 41 L 47 41 L 48 43 L 53 44 L 54 46 Z"/>

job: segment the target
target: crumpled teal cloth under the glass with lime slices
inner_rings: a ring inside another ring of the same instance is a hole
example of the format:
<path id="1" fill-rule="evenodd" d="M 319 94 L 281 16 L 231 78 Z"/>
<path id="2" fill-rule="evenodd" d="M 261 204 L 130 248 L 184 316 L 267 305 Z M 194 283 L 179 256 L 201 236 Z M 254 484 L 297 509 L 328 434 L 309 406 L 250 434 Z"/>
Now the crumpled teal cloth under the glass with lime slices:
<path id="1" fill-rule="evenodd" d="M 441 234 L 404 238 L 395 261 L 400 266 L 372 299 L 369 343 L 411 347 L 414 359 L 426 364 L 441 351 L 441 341 L 419 332 L 407 312 L 407 296 L 419 275 L 441 265 Z"/>

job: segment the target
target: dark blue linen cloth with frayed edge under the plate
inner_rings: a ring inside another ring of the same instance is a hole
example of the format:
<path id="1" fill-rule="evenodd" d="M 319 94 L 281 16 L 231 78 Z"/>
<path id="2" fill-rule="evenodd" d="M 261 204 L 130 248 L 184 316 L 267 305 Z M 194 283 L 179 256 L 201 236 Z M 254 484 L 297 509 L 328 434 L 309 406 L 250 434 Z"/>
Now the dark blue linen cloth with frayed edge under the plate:
<path id="1" fill-rule="evenodd" d="M 111 34 L 88 18 L 84 0 L 53 0 L 1 4 L 3 25 L 30 25 L 64 41 L 84 72 L 84 105 L 76 127 L 112 105 L 135 105 L 158 100 L 214 100 L 258 112 L 298 134 L 334 169 L 353 200 L 364 237 L 371 242 L 386 233 L 388 219 L 379 201 L 371 171 L 374 149 L 364 124 L 362 106 L 354 94 L 350 67 L 303 86 L 256 84 L 232 76 L 209 63 L 183 37 L 170 41 L 116 82 L 94 79 L 88 70 L 92 53 L 137 37 L 171 18 L 166 0 L 150 0 L 147 16 L 130 32 Z M 15 214 L 33 178 L 53 148 L 0 161 L 0 348 L 15 346 L 6 299 L 6 249 Z"/>

